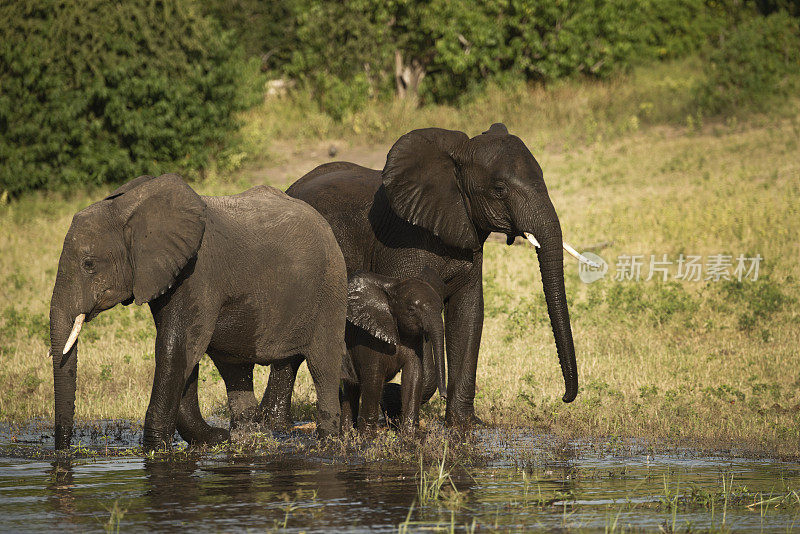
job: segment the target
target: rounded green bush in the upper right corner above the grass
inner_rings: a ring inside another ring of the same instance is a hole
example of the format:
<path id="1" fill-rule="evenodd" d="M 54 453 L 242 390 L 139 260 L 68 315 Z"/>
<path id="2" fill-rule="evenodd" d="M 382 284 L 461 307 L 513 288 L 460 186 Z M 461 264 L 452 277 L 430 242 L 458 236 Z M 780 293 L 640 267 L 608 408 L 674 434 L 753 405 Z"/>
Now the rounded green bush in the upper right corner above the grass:
<path id="1" fill-rule="evenodd" d="M 798 20 L 785 12 L 750 18 L 724 34 L 708 59 L 707 80 L 697 90 L 702 110 L 763 110 L 774 97 L 797 90 Z"/>

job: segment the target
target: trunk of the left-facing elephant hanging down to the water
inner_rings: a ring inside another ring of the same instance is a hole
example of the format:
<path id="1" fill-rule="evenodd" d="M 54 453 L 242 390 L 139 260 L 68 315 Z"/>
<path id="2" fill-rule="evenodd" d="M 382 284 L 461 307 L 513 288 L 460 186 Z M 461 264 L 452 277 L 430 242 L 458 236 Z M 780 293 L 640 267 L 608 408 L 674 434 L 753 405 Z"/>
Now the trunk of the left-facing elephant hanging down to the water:
<path id="1" fill-rule="evenodd" d="M 64 346 L 78 314 L 50 305 L 50 355 L 53 358 L 53 388 L 55 392 L 55 448 L 68 449 L 72 439 L 75 416 L 75 388 L 78 369 L 77 342 L 64 354 Z"/>

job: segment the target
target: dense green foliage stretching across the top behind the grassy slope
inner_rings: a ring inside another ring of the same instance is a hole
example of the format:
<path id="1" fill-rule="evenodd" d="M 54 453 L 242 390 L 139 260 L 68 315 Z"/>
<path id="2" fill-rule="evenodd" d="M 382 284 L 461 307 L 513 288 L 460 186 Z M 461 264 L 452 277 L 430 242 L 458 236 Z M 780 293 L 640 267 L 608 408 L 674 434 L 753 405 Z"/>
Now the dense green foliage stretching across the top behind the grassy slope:
<path id="1" fill-rule="evenodd" d="M 460 105 L 698 51 L 682 113 L 763 107 L 796 88 L 798 16 L 800 0 L 13 0 L 0 199 L 241 160 L 259 63 L 343 123 L 374 99 Z"/>

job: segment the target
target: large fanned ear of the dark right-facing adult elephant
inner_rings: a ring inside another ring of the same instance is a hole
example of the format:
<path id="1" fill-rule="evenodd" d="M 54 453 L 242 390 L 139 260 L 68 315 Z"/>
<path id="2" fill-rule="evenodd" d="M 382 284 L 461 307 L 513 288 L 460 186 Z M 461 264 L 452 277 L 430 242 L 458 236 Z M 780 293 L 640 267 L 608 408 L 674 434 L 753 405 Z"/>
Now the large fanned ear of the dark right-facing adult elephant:
<path id="1" fill-rule="evenodd" d="M 433 232 L 448 245 L 474 249 L 475 226 L 461 196 L 454 152 L 468 141 L 463 132 L 425 128 L 397 140 L 381 173 L 392 209 Z"/>

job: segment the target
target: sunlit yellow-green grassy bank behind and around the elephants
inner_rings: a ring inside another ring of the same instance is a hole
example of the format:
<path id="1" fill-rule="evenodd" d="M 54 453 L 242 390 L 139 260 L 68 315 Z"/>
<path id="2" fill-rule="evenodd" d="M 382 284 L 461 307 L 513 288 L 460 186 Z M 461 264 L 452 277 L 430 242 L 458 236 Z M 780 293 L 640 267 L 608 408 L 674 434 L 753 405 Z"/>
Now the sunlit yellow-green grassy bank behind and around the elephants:
<path id="1" fill-rule="evenodd" d="M 386 104 L 343 123 L 270 100 L 248 113 L 243 135 L 247 153 L 261 154 L 267 165 L 303 159 L 277 150 L 278 143 L 302 149 L 333 141 L 345 159 L 353 147 L 372 147 L 364 150 L 374 160 L 415 127 L 474 135 L 505 122 L 541 163 L 565 239 L 578 249 L 613 244 L 596 250 L 610 265 L 593 284 L 581 282 L 576 263 L 565 260 L 581 382 L 569 405 L 560 401 L 563 381 L 535 254 L 486 245 L 479 415 L 570 436 L 798 455 L 800 106 L 784 102 L 771 115 L 708 121 L 687 96 L 700 75 L 691 62 L 662 65 L 602 84 L 497 88 L 463 110 Z M 270 176 L 269 169 L 258 173 Z M 254 174 L 250 168 L 195 186 L 233 193 Z M 52 416 L 47 322 L 58 255 L 72 214 L 102 194 L 39 194 L 0 206 L 0 420 Z M 666 283 L 613 280 L 619 255 L 644 255 L 646 278 L 651 254 L 676 261 L 681 253 L 704 263 L 714 254 L 733 255 L 734 264 L 739 254 L 764 260 L 758 280 L 741 284 L 675 281 L 675 264 Z M 146 307 L 118 306 L 86 325 L 79 418 L 144 416 L 154 335 Z M 266 376 L 258 370 L 259 394 Z M 205 413 L 224 413 L 224 387 L 207 360 L 201 380 Z M 298 418 L 311 416 L 312 400 L 303 370 Z M 442 413 L 438 400 L 426 408 L 426 417 Z"/>

